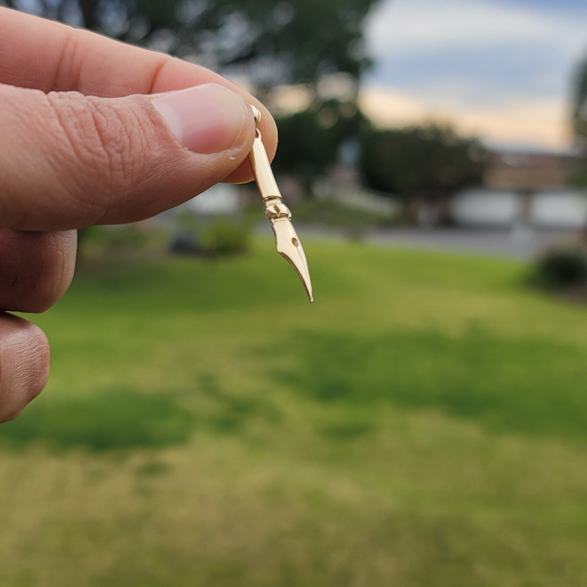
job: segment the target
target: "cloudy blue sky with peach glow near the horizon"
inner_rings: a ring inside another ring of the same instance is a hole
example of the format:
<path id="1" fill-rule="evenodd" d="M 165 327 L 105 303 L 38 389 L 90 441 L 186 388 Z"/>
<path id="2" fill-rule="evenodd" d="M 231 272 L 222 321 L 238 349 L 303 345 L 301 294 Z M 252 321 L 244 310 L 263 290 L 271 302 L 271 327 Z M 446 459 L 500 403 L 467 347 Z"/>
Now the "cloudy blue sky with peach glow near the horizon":
<path id="1" fill-rule="evenodd" d="M 382 0 L 362 108 L 381 126 L 436 120 L 491 146 L 567 150 L 587 0 Z"/>

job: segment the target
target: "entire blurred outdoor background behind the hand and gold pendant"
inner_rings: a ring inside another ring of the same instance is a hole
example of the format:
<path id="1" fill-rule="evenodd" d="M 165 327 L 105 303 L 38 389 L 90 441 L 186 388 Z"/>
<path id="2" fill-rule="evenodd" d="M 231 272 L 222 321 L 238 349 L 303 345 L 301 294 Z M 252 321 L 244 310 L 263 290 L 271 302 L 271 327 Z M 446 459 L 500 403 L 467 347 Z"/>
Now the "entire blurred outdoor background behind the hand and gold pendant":
<path id="1" fill-rule="evenodd" d="M 274 113 L 254 185 L 80 232 L 0 427 L 9 587 L 587 584 L 583 0 L 4 0 Z"/>

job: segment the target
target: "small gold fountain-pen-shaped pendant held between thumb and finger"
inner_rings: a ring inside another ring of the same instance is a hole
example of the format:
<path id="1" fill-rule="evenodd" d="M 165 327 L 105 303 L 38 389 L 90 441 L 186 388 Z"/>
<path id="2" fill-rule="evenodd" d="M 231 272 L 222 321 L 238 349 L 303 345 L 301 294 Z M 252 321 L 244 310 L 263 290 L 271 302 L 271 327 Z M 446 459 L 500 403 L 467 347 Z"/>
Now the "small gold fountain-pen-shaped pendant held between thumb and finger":
<path id="1" fill-rule="evenodd" d="M 309 300 L 313 302 L 312 282 L 310 281 L 306 254 L 303 252 L 302 243 L 294 230 L 294 225 L 292 225 L 291 212 L 281 200 L 281 194 L 275 183 L 275 177 L 271 171 L 271 165 L 261 140 L 261 133 L 259 132 L 261 112 L 254 106 L 251 106 L 251 110 L 255 117 L 257 133 L 255 134 L 251 153 L 249 153 L 249 161 L 251 161 L 255 181 L 265 204 L 265 217 L 271 221 L 273 232 L 275 233 L 277 252 L 285 257 L 296 270 L 303 286 L 306 288 Z"/>

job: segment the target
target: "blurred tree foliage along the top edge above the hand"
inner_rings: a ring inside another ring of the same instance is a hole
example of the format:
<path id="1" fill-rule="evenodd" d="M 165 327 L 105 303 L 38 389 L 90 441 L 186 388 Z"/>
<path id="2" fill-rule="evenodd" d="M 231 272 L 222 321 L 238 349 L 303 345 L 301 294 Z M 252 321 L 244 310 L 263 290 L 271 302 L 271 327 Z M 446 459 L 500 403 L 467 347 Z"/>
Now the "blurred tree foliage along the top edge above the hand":
<path id="1" fill-rule="evenodd" d="M 180 56 L 259 89 L 370 66 L 362 22 L 377 0 L 6 0 Z"/>

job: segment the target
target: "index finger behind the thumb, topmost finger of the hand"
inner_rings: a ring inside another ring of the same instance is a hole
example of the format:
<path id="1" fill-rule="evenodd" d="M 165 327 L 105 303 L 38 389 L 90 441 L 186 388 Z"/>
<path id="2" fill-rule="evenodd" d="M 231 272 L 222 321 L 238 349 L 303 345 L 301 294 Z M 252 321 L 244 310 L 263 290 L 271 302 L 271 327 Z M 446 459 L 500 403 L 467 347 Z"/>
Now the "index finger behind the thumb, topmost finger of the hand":
<path id="1" fill-rule="evenodd" d="M 0 83 L 100 97 L 173 92 L 217 83 L 261 109 L 260 129 L 270 159 L 277 147 L 277 130 L 268 110 L 218 73 L 163 53 L 2 7 Z M 251 169 L 245 161 L 227 181 L 251 179 Z"/>

